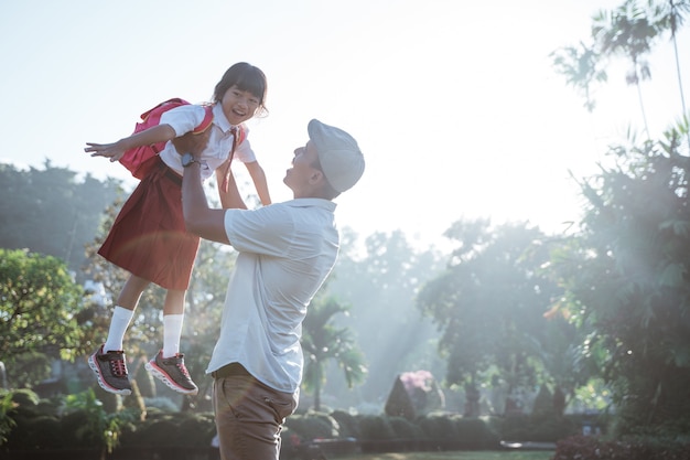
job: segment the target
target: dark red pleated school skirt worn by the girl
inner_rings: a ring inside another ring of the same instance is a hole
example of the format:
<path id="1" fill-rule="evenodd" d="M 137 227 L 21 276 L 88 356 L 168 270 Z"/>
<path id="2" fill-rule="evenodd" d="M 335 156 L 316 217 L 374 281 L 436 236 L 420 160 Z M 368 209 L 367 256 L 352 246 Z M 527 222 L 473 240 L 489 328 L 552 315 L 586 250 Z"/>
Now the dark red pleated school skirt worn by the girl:
<path id="1" fill-rule="evenodd" d="M 164 289 L 186 290 L 198 250 L 182 215 L 182 178 L 162 160 L 127 200 L 98 254 Z"/>

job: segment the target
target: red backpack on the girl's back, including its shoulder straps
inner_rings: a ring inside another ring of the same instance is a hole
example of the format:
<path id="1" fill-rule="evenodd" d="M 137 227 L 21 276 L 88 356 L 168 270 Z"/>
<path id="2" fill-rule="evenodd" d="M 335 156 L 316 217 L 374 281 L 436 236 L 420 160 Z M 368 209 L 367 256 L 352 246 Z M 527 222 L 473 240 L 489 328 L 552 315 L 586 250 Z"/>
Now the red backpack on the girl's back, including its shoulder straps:
<path id="1" fill-rule="evenodd" d="M 173 98 L 165 100 L 164 103 L 159 104 L 150 110 L 141 114 L 141 122 L 138 122 L 134 127 L 134 133 L 143 131 L 145 129 L 151 128 L 152 126 L 158 126 L 161 122 L 161 115 L 166 113 L 170 109 L 175 107 L 188 105 L 184 99 Z M 192 132 L 200 133 L 204 132 L 213 122 L 213 106 L 204 106 L 206 114 L 204 115 L 204 120 L 200 126 L 194 128 Z M 244 133 L 244 129 L 240 130 L 240 136 Z M 241 140 L 240 140 L 241 142 Z M 239 142 L 237 142 L 239 143 Z M 122 158 L 120 158 L 120 163 L 127 168 L 134 178 L 143 179 L 151 168 L 155 164 L 154 161 L 151 161 L 155 156 L 158 156 L 165 148 L 165 142 L 158 142 L 151 146 L 141 146 L 134 147 L 133 149 L 129 149 L 125 152 Z"/>

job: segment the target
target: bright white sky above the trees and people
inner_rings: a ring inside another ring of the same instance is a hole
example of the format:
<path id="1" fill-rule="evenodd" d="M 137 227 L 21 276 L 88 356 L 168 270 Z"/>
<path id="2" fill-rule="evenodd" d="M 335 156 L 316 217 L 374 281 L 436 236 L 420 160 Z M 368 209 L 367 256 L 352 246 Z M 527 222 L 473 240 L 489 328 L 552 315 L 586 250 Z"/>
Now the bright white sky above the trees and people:
<path id="1" fill-rule="evenodd" d="M 589 114 L 548 55 L 586 40 L 592 14 L 622 1 L 7 0 L 0 161 L 50 159 L 133 185 L 85 142 L 129 135 L 170 97 L 208 100 L 247 61 L 269 79 L 270 115 L 249 122 L 249 139 L 274 201 L 291 197 L 282 178 L 317 118 L 349 131 L 367 161 L 336 200 L 341 226 L 401 229 L 422 246 L 445 244 L 460 218 L 559 233 L 581 208 L 568 171 L 596 172 L 605 146 L 628 125 L 642 131 L 642 117 L 627 64 Z M 687 31 L 679 49 L 688 94 Z M 643 86 L 653 135 L 681 114 L 671 51 L 659 44 Z"/>

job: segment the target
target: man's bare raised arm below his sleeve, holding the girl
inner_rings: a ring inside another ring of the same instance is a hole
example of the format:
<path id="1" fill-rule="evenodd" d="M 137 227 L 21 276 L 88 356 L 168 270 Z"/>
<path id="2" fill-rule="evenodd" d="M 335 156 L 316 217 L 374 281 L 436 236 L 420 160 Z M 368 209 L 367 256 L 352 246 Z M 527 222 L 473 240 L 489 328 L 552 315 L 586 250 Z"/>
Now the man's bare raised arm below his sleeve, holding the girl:
<path id="1" fill-rule="evenodd" d="M 230 174 L 231 176 L 231 174 Z M 235 189 L 235 181 L 229 184 Z M 212 210 L 202 185 L 201 167 L 197 162 L 184 169 L 182 178 L 182 213 L 187 232 L 204 239 L 230 244 L 225 232 L 225 210 Z"/>

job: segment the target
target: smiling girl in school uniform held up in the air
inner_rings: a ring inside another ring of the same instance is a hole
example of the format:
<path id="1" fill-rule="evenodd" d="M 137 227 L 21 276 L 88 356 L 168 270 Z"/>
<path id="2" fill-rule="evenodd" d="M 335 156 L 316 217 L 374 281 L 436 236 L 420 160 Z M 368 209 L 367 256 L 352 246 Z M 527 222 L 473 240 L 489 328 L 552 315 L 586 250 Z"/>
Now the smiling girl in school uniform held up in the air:
<path id="1" fill-rule="evenodd" d="M 180 353 L 184 301 L 198 237 L 186 232 L 182 215 L 182 160 L 173 141 L 195 143 L 191 136 L 203 137 L 201 153 L 203 178 L 214 171 L 218 184 L 225 182 L 233 157 L 242 161 L 257 188 L 262 204 L 270 203 L 266 174 L 245 139 L 235 146 L 237 127 L 255 116 L 268 114 L 268 84 L 263 72 L 248 63 L 237 63 L 225 72 L 213 96 L 213 124 L 203 135 L 192 135 L 205 116 L 198 105 L 185 105 L 164 113 L 158 126 L 114 143 L 87 142 L 91 157 L 118 161 L 125 151 L 164 141 L 165 148 L 153 160 L 158 164 L 141 180 L 118 214 L 98 250 L 110 263 L 129 271 L 110 320 L 106 342 L 88 359 L 98 384 L 107 392 L 131 394 L 122 342 L 139 298 L 150 282 L 166 290 L 163 306 L 163 347 L 145 365 L 147 370 L 172 389 L 195 395 L 198 392 Z M 246 128 L 245 128 L 246 129 Z M 180 139 L 183 137 L 183 139 Z M 201 138 L 200 138 L 201 139 Z M 206 143 L 207 142 L 207 143 Z M 234 153 L 231 154 L 231 152 Z M 226 204 L 223 186 L 220 203 Z"/>

